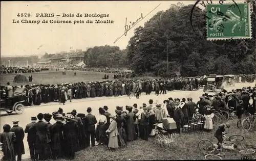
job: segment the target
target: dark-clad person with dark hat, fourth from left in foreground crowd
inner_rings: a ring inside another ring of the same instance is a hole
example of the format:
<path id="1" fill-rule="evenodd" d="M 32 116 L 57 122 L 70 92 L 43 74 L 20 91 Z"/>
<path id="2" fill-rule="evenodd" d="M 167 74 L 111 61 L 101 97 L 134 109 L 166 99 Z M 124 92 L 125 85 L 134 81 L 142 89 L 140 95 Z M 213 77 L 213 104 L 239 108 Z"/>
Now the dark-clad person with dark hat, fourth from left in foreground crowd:
<path id="1" fill-rule="evenodd" d="M 35 155 L 39 155 L 39 160 L 45 160 L 45 157 L 47 157 L 48 143 L 50 143 L 50 130 L 48 124 L 42 121 L 44 114 L 39 113 L 37 118 L 39 121 L 33 124 L 29 128 L 29 131 L 36 132 Z"/>

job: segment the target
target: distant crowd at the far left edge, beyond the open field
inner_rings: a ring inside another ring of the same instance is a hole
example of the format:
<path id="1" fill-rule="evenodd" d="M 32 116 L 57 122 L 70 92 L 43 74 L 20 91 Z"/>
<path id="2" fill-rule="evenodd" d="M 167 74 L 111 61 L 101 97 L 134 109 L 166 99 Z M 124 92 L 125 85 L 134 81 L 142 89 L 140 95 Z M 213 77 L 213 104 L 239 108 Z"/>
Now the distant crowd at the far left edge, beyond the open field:
<path id="1" fill-rule="evenodd" d="M 49 70 L 49 68 L 33 68 L 33 67 L 7 67 L 2 65 L 0 69 L 1 74 L 10 73 L 35 73 L 43 70 Z"/>

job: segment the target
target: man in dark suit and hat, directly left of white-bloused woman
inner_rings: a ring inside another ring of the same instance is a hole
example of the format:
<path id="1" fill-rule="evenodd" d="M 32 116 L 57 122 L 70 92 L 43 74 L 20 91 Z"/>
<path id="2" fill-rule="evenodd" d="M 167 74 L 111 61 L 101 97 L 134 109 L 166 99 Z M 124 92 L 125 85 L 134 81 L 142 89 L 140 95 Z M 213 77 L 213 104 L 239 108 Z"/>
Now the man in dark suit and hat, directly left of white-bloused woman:
<path id="1" fill-rule="evenodd" d="M 87 141 L 86 144 L 87 146 L 90 146 L 90 138 L 92 142 L 92 147 L 95 146 L 95 124 L 97 123 L 96 117 L 92 115 L 92 108 L 87 109 L 88 115 L 84 118 L 86 123 L 84 124 L 84 128 L 86 130 L 86 136 L 87 136 Z"/>

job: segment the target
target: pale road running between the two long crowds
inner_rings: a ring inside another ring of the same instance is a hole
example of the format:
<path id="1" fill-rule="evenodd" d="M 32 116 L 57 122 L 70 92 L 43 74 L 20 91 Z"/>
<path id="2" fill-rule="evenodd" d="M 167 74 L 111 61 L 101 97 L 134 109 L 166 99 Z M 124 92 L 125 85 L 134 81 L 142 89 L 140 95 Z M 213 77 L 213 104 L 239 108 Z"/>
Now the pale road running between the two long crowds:
<path id="1" fill-rule="evenodd" d="M 253 84 L 248 84 L 248 83 L 236 84 L 236 87 L 234 87 L 234 89 L 248 87 L 248 86 L 253 86 Z M 233 88 L 229 87 L 225 89 L 227 91 L 231 91 Z M 92 114 L 95 115 L 96 118 L 98 118 L 99 116 L 98 108 L 103 107 L 103 105 L 107 105 L 109 107 L 109 112 L 111 114 L 115 114 L 115 109 L 117 105 L 121 105 L 125 107 L 125 105 L 133 105 L 134 103 L 137 103 L 139 107 L 144 102 L 148 104 L 149 99 L 153 99 L 154 102 L 158 101 L 162 103 L 163 100 L 167 99 L 168 97 L 173 97 L 173 98 L 192 97 L 193 101 L 197 102 L 199 100 L 199 96 L 201 96 L 202 94 L 203 94 L 203 90 L 200 89 L 199 91 L 172 91 L 172 92 L 167 92 L 167 94 L 165 95 L 158 95 L 158 96 L 152 93 L 151 95 L 141 95 L 140 99 L 136 99 L 135 97 L 133 97 L 132 99 L 129 99 L 128 96 L 120 96 L 120 97 L 101 97 L 101 98 L 86 98 L 86 99 L 80 99 L 80 100 L 73 100 L 72 102 L 67 102 L 66 105 L 62 105 L 56 102 L 50 102 L 48 104 L 42 103 L 39 106 L 32 106 L 32 107 L 25 108 L 23 114 L 21 115 L 16 115 L 16 114 L 6 115 L 5 112 L 1 113 L 2 116 L 1 116 L 0 132 L 3 132 L 2 127 L 4 124 L 10 124 L 12 126 L 12 120 L 19 120 L 19 126 L 25 129 L 26 125 L 31 122 L 30 120 L 31 116 L 36 116 L 38 113 L 51 114 L 52 112 L 57 111 L 58 108 L 62 108 L 64 113 L 71 112 L 73 109 L 75 109 L 77 113 L 87 114 L 86 110 L 89 106 L 91 106 L 93 109 Z M 54 123 L 54 122 L 55 121 L 52 119 L 51 123 Z M 187 134 L 181 133 L 181 135 L 187 135 Z M 254 136 L 251 136 L 251 137 L 255 138 L 256 137 L 255 132 L 253 133 L 253 135 Z M 184 138 L 186 138 L 186 136 L 184 136 Z M 212 139 L 213 138 L 214 137 L 212 136 Z M 30 155 L 29 155 L 29 148 L 27 143 L 27 134 L 25 135 L 24 145 L 25 145 L 26 154 L 23 155 L 23 158 L 28 158 L 30 157 Z M 110 158 L 106 158 L 106 159 L 110 159 Z M 183 159 L 186 159 L 186 157 L 184 157 Z"/>

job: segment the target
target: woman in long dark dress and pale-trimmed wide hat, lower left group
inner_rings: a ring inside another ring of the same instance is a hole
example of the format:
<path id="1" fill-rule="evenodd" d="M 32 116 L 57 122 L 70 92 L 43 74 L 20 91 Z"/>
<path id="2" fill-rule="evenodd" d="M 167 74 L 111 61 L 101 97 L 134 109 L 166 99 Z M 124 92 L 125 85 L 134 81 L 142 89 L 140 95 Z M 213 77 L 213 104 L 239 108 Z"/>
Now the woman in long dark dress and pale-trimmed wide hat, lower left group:
<path id="1" fill-rule="evenodd" d="M 63 152 L 68 159 L 74 159 L 77 151 L 77 133 L 79 127 L 72 114 L 66 115 L 67 123 L 63 127 Z"/>

